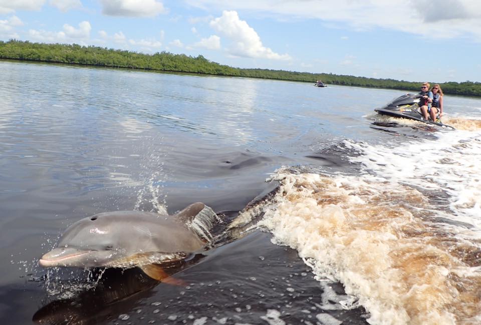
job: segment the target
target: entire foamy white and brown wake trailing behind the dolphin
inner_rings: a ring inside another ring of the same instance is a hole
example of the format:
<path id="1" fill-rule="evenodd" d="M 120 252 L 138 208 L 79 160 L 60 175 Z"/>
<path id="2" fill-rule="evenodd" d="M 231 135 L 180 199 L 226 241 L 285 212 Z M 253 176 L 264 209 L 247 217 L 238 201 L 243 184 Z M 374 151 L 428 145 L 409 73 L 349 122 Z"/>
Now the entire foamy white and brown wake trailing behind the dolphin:
<path id="1" fill-rule="evenodd" d="M 261 225 L 342 282 L 372 324 L 481 323 L 481 122 L 451 122 L 435 140 L 345 140 L 360 175 L 272 177 L 281 188 Z"/>

